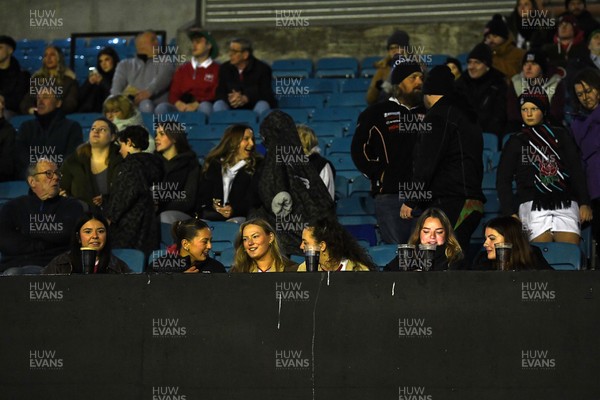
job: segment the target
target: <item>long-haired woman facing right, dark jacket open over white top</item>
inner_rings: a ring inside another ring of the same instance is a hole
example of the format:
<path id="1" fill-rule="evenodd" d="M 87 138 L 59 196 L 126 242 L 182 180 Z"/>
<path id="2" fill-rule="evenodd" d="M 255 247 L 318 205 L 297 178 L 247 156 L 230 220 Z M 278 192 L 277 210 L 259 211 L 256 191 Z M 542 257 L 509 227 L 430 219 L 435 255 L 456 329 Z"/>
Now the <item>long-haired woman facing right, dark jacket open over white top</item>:
<path id="1" fill-rule="evenodd" d="M 243 222 L 250 211 L 252 177 L 261 161 L 252 128 L 241 124 L 227 127 L 204 162 L 199 191 L 202 218 Z"/>

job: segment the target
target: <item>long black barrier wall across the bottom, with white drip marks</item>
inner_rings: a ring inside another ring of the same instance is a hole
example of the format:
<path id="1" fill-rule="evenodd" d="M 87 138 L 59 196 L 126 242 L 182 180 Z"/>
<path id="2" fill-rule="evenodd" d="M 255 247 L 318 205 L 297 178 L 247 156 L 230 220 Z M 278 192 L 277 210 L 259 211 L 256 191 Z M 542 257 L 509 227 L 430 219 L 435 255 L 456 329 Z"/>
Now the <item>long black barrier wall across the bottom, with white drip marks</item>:
<path id="1" fill-rule="evenodd" d="M 599 277 L 5 277 L 0 398 L 597 400 Z"/>

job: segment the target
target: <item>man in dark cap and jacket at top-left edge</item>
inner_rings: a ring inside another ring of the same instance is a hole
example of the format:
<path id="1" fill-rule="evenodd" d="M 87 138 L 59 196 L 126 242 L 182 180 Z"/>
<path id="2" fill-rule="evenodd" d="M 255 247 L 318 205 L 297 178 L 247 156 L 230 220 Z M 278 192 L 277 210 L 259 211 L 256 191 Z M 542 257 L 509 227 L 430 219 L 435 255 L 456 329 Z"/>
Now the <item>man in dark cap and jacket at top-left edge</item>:
<path id="1" fill-rule="evenodd" d="M 10 36 L 0 36 L 0 94 L 4 95 L 5 116 L 10 119 L 19 113 L 19 104 L 29 88 L 29 73 L 21 66 L 13 52 L 17 43 Z"/>

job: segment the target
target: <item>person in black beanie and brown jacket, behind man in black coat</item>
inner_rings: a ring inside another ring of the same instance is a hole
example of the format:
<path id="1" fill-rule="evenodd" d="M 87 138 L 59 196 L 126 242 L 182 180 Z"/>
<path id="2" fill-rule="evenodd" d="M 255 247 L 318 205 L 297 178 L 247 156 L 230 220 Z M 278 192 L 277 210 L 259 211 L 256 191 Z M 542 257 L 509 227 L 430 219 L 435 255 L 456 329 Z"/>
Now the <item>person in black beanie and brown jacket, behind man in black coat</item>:
<path id="1" fill-rule="evenodd" d="M 500 14 L 487 23 L 483 31 L 484 43 L 490 46 L 493 52 L 492 64 L 508 79 L 517 74 L 521 68 L 522 49 L 517 48 L 508 33 L 508 26 Z"/>

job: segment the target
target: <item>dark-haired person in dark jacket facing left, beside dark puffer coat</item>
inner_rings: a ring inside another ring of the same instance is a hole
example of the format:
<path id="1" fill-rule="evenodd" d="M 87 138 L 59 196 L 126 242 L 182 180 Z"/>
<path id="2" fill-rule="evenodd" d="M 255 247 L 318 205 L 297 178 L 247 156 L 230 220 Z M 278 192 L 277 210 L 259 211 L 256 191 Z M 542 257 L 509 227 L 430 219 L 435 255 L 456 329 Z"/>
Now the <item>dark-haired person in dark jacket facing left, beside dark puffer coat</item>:
<path id="1" fill-rule="evenodd" d="M 187 141 L 185 125 L 158 123 L 154 141 L 165 172 L 153 193 L 158 211 L 177 210 L 193 215 L 198 207 L 200 163 Z"/>

